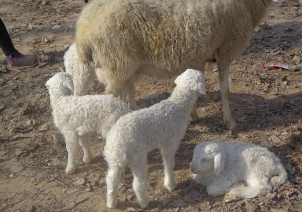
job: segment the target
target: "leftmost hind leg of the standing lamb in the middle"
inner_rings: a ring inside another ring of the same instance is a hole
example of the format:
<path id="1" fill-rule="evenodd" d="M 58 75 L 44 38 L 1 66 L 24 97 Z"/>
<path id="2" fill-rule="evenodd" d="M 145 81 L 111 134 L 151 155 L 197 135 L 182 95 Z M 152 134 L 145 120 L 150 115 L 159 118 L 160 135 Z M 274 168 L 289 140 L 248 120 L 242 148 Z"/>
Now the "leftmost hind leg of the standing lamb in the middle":
<path id="1" fill-rule="evenodd" d="M 124 167 L 110 166 L 106 175 L 107 184 L 107 207 L 115 208 L 117 206 L 117 190 L 121 181 Z"/>

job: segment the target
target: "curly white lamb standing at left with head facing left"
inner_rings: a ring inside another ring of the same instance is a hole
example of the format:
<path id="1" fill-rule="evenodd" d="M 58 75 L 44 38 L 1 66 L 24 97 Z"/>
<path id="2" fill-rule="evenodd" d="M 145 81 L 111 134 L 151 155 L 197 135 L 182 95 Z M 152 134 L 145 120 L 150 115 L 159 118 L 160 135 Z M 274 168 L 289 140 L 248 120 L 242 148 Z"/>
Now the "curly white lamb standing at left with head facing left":
<path id="1" fill-rule="evenodd" d="M 90 140 L 94 133 L 105 138 L 109 129 L 123 115 L 129 112 L 124 101 L 113 95 L 73 96 L 71 76 L 59 72 L 52 76 L 46 87 L 50 96 L 54 125 L 65 138 L 68 151 L 66 174 L 75 171 L 75 153 L 83 148 L 85 163 L 90 163 L 93 155 Z"/>

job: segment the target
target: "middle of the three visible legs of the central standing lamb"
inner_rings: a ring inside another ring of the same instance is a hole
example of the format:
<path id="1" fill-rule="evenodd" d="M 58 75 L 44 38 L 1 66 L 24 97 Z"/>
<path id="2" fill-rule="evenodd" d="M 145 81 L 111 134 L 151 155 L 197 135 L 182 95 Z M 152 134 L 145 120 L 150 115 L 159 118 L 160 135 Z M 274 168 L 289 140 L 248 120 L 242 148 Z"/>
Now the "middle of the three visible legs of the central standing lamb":
<path id="1" fill-rule="evenodd" d="M 135 164 L 130 166 L 133 174 L 133 190 L 136 194 L 138 204 L 141 208 L 149 205 L 147 198 L 147 158 L 140 158 Z"/>

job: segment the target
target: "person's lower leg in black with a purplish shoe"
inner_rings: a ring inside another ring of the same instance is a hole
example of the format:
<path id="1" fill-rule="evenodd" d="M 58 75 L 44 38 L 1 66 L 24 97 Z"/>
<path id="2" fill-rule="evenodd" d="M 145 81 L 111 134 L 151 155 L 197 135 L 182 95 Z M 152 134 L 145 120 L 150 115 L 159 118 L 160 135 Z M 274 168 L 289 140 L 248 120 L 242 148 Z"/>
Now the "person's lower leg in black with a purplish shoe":
<path id="1" fill-rule="evenodd" d="M 6 60 L 10 66 L 32 67 L 38 64 L 38 59 L 34 55 L 23 55 L 15 49 L 6 26 L 0 19 L 0 48 L 6 55 Z"/>

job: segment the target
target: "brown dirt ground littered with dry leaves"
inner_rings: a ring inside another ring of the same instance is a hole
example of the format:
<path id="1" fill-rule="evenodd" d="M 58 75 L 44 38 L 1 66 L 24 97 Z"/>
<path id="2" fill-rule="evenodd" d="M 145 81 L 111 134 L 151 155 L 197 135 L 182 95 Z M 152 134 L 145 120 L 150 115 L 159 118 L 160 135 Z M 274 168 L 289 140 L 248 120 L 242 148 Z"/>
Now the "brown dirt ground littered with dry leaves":
<path id="1" fill-rule="evenodd" d="M 0 211 L 302 211 L 302 7 L 272 5 L 245 52 L 231 67 L 231 109 L 238 123 L 231 135 L 222 122 L 215 64 L 205 71 L 207 95 L 198 101 L 201 117 L 189 125 L 176 155 L 177 188 L 163 186 L 158 151 L 149 154 L 148 198 L 136 204 L 129 170 L 123 174 L 117 209 L 106 208 L 102 156 L 104 142 L 93 139 L 91 164 L 78 153 L 77 172 L 66 176 L 67 151 L 51 118 L 45 82 L 63 69 L 63 54 L 74 41 L 83 0 L 1 0 L 0 17 L 16 48 L 34 53 L 39 65 L 11 68 L 0 52 Z M 267 69 L 267 62 L 295 65 L 295 72 Z M 139 107 L 166 98 L 173 79 L 144 78 L 137 84 Z M 102 93 L 97 84 L 91 93 Z M 150 95 L 152 93 L 157 93 Z M 196 144 L 206 140 L 249 142 L 267 147 L 282 161 L 288 181 L 266 196 L 224 203 L 192 180 L 190 161 Z"/>

